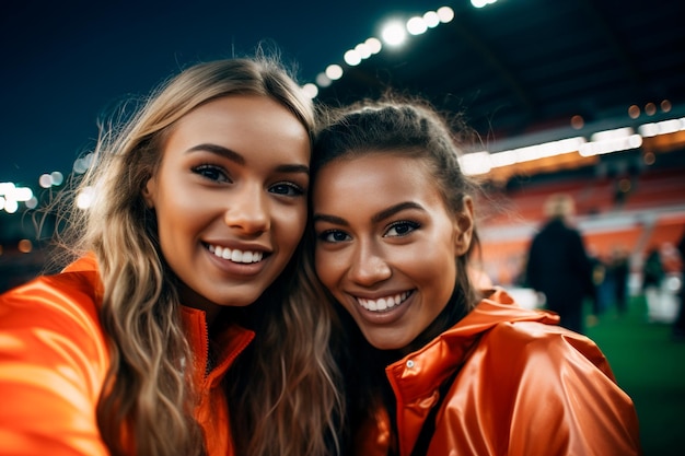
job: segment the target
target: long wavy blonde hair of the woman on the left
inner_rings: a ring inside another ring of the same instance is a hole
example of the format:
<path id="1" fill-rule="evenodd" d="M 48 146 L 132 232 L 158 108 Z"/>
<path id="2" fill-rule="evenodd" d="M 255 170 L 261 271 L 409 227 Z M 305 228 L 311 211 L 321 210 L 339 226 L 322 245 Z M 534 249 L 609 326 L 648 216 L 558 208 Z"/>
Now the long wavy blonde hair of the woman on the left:
<path id="1" fill-rule="evenodd" d="M 88 211 L 70 212 L 67 235 L 79 239 L 72 253 L 94 253 L 102 274 L 101 319 L 112 366 L 97 420 L 113 455 L 127 454 L 131 444 L 146 456 L 205 454 L 193 418 L 193 353 L 179 318 L 177 279 L 162 257 L 156 220 L 141 190 L 175 122 L 235 94 L 271 97 L 314 129 L 311 100 L 277 57 L 198 63 L 164 82 L 132 116 L 101 129 L 94 164 L 77 189 L 95 189 Z M 339 453 L 330 318 L 313 297 L 312 280 L 298 252 L 257 303 L 228 309 L 257 334 L 224 379 L 240 455 Z"/>

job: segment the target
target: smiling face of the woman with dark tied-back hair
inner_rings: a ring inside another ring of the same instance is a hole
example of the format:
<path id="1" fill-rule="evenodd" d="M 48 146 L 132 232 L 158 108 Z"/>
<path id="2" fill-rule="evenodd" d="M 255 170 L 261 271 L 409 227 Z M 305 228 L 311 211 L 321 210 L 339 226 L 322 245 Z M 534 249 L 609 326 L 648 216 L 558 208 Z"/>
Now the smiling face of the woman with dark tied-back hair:
<path id="1" fill-rule="evenodd" d="M 446 305 L 469 239 L 428 167 L 392 152 L 336 160 L 313 204 L 321 281 L 371 344 L 408 346 Z"/>

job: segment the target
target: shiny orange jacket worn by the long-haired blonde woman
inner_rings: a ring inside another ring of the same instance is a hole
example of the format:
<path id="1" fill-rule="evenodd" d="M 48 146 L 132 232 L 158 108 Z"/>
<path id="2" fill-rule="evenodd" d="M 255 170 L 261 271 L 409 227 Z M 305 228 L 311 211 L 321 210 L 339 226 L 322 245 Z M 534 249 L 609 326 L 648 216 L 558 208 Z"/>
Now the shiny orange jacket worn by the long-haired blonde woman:
<path id="1" fill-rule="evenodd" d="M 109 366 L 97 316 L 101 302 L 102 284 L 92 257 L 0 295 L 2 455 L 108 455 L 95 419 Z M 208 455 L 233 455 L 220 381 L 254 334 L 239 327 L 221 334 L 214 342 L 222 351 L 206 374 L 205 313 L 182 308 L 195 350 L 194 378 L 200 396 L 196 418 Z"/>

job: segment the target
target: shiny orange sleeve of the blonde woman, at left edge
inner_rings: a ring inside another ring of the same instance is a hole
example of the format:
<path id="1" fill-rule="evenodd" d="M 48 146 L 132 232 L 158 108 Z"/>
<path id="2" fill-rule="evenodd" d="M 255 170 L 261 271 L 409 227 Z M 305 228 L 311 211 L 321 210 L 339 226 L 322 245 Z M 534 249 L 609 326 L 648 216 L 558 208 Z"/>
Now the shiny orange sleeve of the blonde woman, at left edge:
<path id="1" fill-rule="evenodd" d="M 94 283 L 62 273 L 0 295 L 3 455 L 108 455 L 95 418 L 109 361 Z"/>

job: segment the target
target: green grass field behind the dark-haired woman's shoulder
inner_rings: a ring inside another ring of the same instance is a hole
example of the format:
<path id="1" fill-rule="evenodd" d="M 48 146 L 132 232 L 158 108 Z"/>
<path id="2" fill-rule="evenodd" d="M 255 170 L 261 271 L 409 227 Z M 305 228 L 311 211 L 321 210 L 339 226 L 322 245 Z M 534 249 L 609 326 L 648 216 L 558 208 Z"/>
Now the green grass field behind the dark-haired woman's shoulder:
<path id="1" fill-rule="evenodd" d="M 673 339 L 670 325 L 647 323 L 646 315 L 645 299 L 635 296 L 626 315 L 609 308 L 585 332 L 635 402 L 645 456 L 680 456 L 685 454 L 685 341 Z"/>

